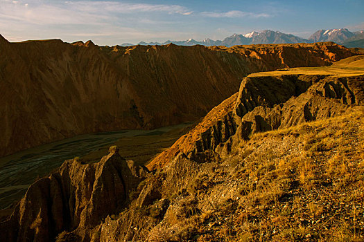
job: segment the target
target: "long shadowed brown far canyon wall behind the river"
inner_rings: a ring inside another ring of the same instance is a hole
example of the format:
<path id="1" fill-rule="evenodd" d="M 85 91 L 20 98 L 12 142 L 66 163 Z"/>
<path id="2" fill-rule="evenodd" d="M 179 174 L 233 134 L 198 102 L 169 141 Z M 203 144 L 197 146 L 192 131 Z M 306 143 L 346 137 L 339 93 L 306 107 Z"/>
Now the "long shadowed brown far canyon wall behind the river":
<path id="1" fill-rule="evenodd" d="M 197 120 L 249 73 L 351 55 L 333 43 L 101 47 L 1 37 L 0 156 L 80 133 Z"/>

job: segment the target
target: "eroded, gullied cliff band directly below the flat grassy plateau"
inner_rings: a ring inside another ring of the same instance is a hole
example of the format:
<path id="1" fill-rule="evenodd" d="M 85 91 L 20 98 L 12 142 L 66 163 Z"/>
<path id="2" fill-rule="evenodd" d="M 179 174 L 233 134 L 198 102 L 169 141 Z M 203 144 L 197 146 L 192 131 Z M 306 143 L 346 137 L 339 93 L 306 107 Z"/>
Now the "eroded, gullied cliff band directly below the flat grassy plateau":
<path id="1" fill-rule="evenodd" d="M 363 105 L 364 75 L 271 75 L 245 77 L 238 95 L 216 106 L 195 129 L 150 161 L 160 169 L 177 153 L 229 153 L 253 133 L 322 120 Z M 211 119 L 211 117 L 214 117 Z"/>

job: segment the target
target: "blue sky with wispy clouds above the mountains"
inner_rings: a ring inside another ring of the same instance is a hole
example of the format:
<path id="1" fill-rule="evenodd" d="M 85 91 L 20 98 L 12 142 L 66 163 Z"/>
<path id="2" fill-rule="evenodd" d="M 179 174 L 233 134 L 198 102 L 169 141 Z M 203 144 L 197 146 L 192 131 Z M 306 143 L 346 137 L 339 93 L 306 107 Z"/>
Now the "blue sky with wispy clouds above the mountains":
<path id="1" fill-rule="evenodd" d="M 308 38 L 331 28 L 364 30 L 364 0 L 0 0 L 0 35 L 9 41 L 91 39 L 114 46 L 266 29 Z"/>

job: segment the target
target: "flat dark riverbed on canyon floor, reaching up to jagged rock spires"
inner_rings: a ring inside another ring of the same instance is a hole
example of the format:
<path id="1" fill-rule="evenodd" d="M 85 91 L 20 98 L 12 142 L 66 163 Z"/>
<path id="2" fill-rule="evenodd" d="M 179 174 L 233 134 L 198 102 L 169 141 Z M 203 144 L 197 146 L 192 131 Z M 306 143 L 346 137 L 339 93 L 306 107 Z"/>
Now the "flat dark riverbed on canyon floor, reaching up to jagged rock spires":
<path id="1" fill-rule="evenodd" d="M 0 209 L 12 207 L 29 185 L 76 156 L 97 161 L 107 155 L 107 147 L 118 145 L 120 153 L 139 165 L 169 147 L 191 123 L 155 130 L 123 130 L 89 133 L 0 158 Z"/>

